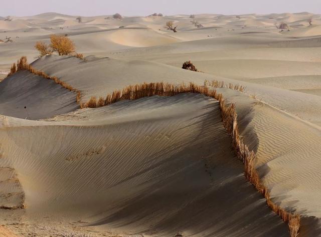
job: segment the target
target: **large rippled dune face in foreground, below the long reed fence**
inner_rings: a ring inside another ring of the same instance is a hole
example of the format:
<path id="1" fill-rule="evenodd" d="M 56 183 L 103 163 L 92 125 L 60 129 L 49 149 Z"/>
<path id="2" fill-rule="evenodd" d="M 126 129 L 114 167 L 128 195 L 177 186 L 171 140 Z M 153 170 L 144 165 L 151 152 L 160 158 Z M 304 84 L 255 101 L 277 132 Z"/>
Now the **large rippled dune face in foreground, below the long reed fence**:
<path id="1" fill-rule="evenodd" d="M 287 236 L 245 180 L 211 98 L 143 98 L 15 124 L 0 129 L 1 165 L 19 173 L 23 218 L 151 236 Z"/>

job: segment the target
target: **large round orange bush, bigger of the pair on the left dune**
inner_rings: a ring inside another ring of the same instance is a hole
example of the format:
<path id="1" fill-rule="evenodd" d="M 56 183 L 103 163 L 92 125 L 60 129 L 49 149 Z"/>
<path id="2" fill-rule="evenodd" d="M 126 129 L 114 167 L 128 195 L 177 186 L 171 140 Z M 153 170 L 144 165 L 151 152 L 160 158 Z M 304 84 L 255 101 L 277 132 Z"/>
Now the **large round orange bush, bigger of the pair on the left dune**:
<path id="1" fill-rule="evenodd" d="M 59 55 L 69 55 L 75 52 L 74 43 L 66 36 L 52 35 L 50 36 L 50 41 L 52 51 L 57 52 Z"/>

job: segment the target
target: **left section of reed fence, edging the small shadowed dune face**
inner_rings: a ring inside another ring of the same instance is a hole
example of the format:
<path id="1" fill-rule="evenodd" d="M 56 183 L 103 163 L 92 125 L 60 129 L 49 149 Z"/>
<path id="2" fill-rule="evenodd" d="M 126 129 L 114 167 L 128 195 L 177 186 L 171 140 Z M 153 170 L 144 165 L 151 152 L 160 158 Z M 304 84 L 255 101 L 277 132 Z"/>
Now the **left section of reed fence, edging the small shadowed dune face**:
<path id="1" fill-rule="evenodd" d="M 46 78 L 46 79 L 50 79 L 55 81 L 56 84 L 61 85 L 62 87 L 68 89 L 69 91 L 72 92 L 76 92 L 77 96 L 76 96 L 76 102 L 78 104 L 80 104 L 80 99 L 81 99 L 81 92 L 79 90 L 76 90 L 75 88 L 73 88 L 71 85 L 69 85 L 66 82 L 61 81 L 60 79 L 58 79 L 57 77 L 51 77 L 48 74 L 46 74 L 43 71 L 37 70 L 35 69 L 33 66 L 31 66 L 28 61 L 27 61 L 27 57 L 23 56 L 21 57 L 18 62 L 17 65 L 14 63 L 10 69 L 10 73 L 8 74 L 8 76 L 11 76 L 13 74 L 15 74 L 18 71 L 22 71 L 22 70 L 28 70 L 30 73 L 33 73 L 37 76 Z"/>

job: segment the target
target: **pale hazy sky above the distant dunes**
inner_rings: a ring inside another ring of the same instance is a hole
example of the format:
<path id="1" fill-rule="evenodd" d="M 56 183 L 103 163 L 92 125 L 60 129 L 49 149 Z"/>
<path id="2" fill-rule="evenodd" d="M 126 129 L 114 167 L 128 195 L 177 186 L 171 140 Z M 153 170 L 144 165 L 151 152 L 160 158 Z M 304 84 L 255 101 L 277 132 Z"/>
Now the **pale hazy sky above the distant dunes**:
<path id="1" fill-rule="evenodd" d="M 146 16 L 175 14 L 321 13 L 321 0 L 0 0 L 0 16 L 57 12 L 74 16 L 120 13 Z"/>

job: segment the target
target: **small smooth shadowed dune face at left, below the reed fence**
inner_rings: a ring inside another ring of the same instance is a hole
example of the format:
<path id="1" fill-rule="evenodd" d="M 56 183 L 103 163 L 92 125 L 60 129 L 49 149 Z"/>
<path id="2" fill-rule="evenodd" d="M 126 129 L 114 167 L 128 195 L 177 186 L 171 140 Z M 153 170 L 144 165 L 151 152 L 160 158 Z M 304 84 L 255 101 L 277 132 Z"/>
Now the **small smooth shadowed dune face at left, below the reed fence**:
<path id="1" fill-rule="evenodd" d="M 2 115 L 36 120 L 77 108 L 76 93 L 28 71 L 20 71 L 0 83 Z"/>

